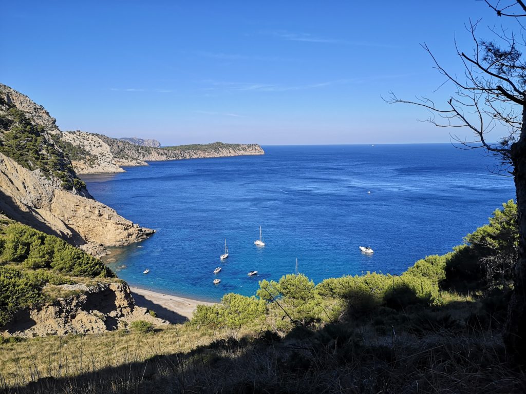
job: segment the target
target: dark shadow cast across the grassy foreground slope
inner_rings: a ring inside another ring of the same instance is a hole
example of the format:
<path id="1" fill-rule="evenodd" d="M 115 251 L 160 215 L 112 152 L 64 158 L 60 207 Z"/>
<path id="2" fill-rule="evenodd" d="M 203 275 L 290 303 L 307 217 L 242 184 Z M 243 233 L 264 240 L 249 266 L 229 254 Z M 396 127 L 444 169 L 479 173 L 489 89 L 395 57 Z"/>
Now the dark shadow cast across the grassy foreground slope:
<path id="1" fill-rule="evenodd" d="M 255 339 L 230 337 L 5 392 L 524 392 L 526 377 L 506 364 L 498 329 L 477 323 L 492 313 L 474 313 L 471 304 L 398 312 L 380 307 L 361 323 L 297 327 L 285 338 L 270 331 Z M 467 323 L 456 323 L 462 319 Z"/>

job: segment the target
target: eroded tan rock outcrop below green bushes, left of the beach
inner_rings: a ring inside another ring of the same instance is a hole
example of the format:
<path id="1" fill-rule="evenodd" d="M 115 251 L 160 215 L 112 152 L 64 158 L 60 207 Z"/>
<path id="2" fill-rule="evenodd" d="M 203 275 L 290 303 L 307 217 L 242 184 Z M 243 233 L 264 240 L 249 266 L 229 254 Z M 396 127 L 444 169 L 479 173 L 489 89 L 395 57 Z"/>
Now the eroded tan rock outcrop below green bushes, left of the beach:
<path id="1" fill-rule="evenodd" d="M 42 337 L 47 335 L 98 334 L 126 327 L 135 320 L 168 324 L 135 305 L 126 283 L 98 282 L 86 286 L 62 285 L 75 294 L 54 303 L 22 310 L 3 328 L 6 336 Z"/>

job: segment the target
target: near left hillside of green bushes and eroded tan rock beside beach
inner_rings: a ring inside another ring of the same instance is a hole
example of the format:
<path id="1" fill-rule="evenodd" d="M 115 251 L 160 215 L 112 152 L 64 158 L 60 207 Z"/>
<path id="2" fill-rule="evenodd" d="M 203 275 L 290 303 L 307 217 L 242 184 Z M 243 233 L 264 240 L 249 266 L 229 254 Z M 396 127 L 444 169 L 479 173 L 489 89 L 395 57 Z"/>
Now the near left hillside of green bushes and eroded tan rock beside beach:
<path id="1" fill-rule="evenodd" d="M 135 305 L 97 258 L 0 215 L 0 338 L 103 333 L 135 320 L 164 324 Z"/>

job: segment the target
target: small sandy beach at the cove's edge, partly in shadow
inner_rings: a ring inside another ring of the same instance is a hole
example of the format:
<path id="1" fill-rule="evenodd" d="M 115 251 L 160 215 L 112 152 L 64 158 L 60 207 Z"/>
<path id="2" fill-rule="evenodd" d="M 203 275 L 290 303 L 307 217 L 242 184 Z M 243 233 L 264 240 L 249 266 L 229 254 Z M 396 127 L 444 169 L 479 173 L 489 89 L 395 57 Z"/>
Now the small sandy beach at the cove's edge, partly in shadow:
<path id="1" fill-rule="evenodd" d="M 214 305 L 214 303 L 156 293 L 138 287 L 130 286 L 130 289 L 137 306 L 153 310 L 158 317 L 174 324 L 189 320 L 199 304 Z"/>

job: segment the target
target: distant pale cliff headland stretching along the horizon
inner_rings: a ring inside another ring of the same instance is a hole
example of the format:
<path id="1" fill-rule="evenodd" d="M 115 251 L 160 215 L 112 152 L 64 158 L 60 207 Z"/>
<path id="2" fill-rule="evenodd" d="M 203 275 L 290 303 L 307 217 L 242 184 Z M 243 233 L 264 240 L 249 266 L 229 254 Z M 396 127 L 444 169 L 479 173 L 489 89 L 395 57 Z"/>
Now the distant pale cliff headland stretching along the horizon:
<path id="1" fill-rule="evenodd" d="M 148 165 L 147 161 L 265 154 L 258 144 L 215 142 L 154 148 L 83 131 L 64 132 L 60 139 L 70 147 L 69 157 L 78 174 L 123 172 L 121 166 Z"/>

